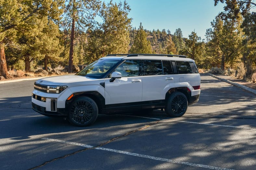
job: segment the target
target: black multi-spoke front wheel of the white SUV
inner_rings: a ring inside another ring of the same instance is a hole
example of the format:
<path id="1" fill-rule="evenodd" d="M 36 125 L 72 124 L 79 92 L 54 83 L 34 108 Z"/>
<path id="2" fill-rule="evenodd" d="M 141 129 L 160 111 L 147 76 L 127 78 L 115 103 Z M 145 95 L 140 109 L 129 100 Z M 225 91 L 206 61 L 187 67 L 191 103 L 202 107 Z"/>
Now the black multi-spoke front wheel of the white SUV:
<path id="1" fill-rule="evenodd" d="M 95 122 L 98 117 L 98 107 L 90 97 L 78 97 L 69 108 L 68 119 L 76 126 L 88 126 Z"/>

